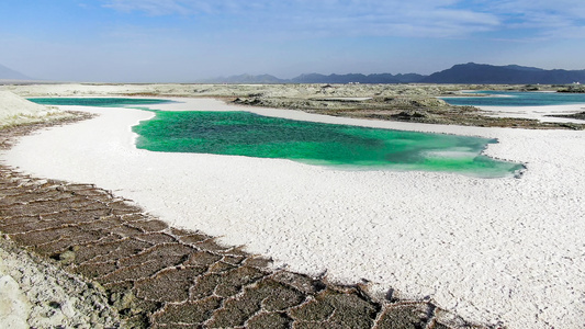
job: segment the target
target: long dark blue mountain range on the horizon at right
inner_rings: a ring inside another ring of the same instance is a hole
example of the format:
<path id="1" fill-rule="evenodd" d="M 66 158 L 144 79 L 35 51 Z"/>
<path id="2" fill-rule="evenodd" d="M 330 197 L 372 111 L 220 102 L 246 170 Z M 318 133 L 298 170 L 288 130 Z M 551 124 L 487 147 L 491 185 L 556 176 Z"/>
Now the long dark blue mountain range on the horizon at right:
<path id="1" fill-rule="evenodd" d="M 301 75 L 292 79 L 274 76 L 232 76 L 201 82 L 209 83 L 477 83 L 477 84 L 566 84 L 585 83 L 585 70 L 545 70 L 518 65 L 493 66 L 486 64 L 460 64 L 450 69 L 423 76 L 408 75 Z"/>

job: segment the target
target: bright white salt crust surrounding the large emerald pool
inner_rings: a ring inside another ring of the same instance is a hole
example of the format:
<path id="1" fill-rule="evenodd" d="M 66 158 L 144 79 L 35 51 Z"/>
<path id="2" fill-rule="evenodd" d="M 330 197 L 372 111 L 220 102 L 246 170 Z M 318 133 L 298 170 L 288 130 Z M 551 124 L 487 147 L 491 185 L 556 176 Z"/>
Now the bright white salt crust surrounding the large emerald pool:
<path id="1" fill-rule="evenodd" d="M 584 132 L 359 121 L 209 99 L 177 101 L 182 103 L 153 109 L 250 111 L 498 138 L 486 154 L 527 163 L 528 170 L 521 179 L 477 179 L 149 152 L 135 148 L 130 127 L 153 113 L 81 106 L 61 107 L 101 115 L 24 137 L 1 158 L 38 177 L 95 183 L 171 225 L 272 257 L 277 266 L 327 271 L 339 282 L 368 280 L 402 298 L 430 296 L 473 321 L 583 327 Z"/>

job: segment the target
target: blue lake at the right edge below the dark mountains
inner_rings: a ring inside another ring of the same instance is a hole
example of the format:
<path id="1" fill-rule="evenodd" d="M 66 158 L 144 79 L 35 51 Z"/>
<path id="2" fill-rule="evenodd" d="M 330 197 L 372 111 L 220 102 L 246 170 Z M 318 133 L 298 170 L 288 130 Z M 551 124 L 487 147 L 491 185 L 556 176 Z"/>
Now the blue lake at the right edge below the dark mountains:
<path id="1" fill-rule="evenodd" d="M 518 91 L 479 91 L 470 94 L 481 97 L 441 98 L 452 105 L 471 106 L 544 106 L 585 104 L 583 93 L 563 92 L 518 92 Z"/>

